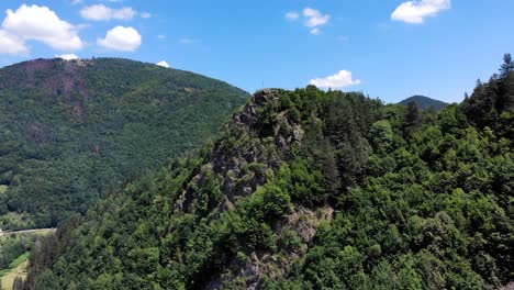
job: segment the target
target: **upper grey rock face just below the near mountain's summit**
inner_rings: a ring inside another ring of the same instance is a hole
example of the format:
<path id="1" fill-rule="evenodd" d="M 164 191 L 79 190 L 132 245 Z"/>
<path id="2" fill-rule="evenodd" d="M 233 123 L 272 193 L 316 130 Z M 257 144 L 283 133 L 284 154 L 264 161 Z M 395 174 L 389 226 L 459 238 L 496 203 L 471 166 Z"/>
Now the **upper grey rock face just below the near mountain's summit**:
<path id="1" fill-rule="evenodd" d="M 280 121 L 273 124 L 269 136 L 261 134 L 262 124 L 259 123 L 258 111 L 278 103 L 280 93 L 280 90 L 257 91 L 225 129 L 226 132 L 236 133 L 222 140 L 212 149 L 208 167 L 217 172 L 222 180 L 221 189 L 226 197 L 219 204 L 220 211 L 231 208 L 238 198 L 252 194 L 258 186 L 264 185 L 269 170 L 277 169 L 283 163 L 288 150 L 294 144 L 301 143 L 302 127 L 288 120 L 283 113 L 279 115 Z M 234 143 L 236 146 L 233 146 Z M 201 171 L 193 178 L 194 187 L 202 186 L 205 179 Z M 186 190 L 177 204 L 178 208 L 192 211 L 194 192 Z"/>

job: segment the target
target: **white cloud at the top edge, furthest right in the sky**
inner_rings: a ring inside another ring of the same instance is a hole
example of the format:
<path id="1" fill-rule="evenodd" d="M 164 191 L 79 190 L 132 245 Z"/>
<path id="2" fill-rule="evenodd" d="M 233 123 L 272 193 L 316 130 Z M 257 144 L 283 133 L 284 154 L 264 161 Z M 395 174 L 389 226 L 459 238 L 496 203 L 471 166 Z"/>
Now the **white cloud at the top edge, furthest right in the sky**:
<path id="1" fill-rule="evenodd" d="M 413 0 L 401 3 L 391 14 L 391 19 L 406 23 L 423 23 L 425 18 L 435 16 L 443 10 L 450 9 L 451 0 Z"/>

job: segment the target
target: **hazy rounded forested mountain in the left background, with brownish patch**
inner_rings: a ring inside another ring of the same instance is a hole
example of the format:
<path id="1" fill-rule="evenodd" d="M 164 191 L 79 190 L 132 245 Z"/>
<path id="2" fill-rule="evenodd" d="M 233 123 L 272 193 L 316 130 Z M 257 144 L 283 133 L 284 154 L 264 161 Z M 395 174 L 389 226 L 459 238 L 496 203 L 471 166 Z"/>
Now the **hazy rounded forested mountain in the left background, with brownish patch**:
<path id="1" fill-rule="evenodd" d="M 55 226 L 145 168 L 198 147 L 249 94 L 126 59 L 0 69 L 0 228 Z"/>

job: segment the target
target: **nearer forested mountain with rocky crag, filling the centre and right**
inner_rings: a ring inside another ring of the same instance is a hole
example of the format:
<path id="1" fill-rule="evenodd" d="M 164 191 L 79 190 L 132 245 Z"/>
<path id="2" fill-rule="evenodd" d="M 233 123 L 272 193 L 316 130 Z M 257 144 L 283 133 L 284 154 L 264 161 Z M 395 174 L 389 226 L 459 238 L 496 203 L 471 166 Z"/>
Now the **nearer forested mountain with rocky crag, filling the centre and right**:
<path id="1" fill-rule="evenodd" d="M 438 114 L 312 86 L 258 91 L 214 143 L 38 245 L 25 288 L 505 285 L 513 70 Z"/>

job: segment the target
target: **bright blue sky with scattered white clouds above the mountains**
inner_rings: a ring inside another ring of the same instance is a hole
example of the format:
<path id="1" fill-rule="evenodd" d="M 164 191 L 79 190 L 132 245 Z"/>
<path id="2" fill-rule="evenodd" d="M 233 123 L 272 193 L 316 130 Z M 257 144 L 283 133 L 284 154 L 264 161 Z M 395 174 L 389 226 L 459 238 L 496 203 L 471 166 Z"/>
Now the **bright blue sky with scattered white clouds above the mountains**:
<path id="1" fill-rule="evenodd" d="M 514 53 L 514 0 L 2 0 L 0 67 L 124 57 L 249 92 L 460 102 Z"/>

